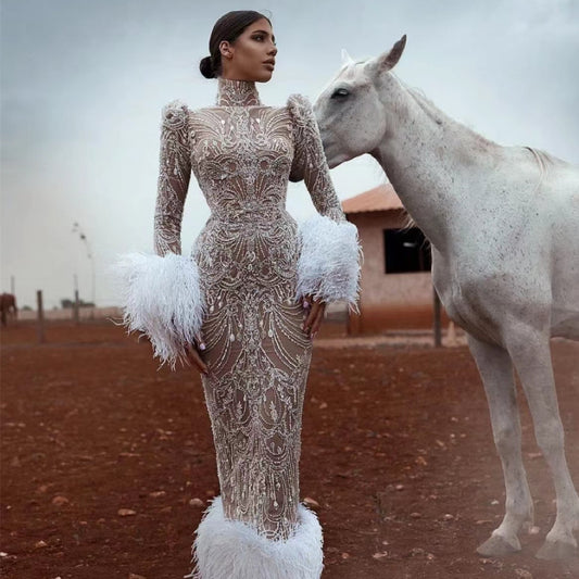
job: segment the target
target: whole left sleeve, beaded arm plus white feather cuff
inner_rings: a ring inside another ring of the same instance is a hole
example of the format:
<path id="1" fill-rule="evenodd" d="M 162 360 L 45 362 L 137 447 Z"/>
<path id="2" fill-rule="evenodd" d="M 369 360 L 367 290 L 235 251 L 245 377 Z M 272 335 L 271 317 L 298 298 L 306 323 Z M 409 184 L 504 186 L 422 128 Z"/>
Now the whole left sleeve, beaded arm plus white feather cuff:
<path id="1" fill-rule="evenodd" d="M 123 325 L 149 338 L 153 355 L 172 369 L 186 363 L 185 347 L 199 332 L 205 312 L 199 268 L 181 255 L 180 231 L 191 175 L 187 105 L 163 108 L 154 253 L 125 253 L 114 265 Z"/>

